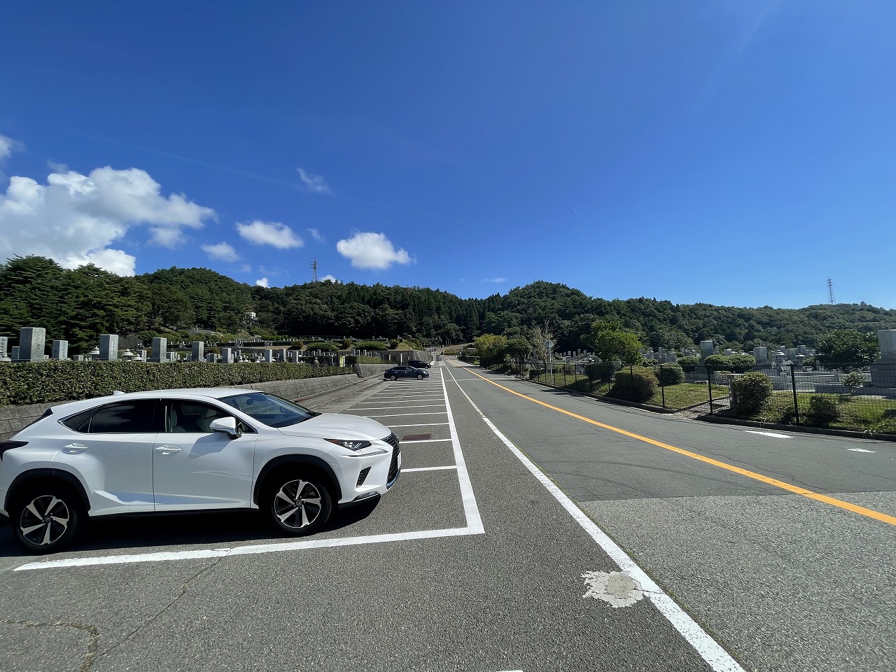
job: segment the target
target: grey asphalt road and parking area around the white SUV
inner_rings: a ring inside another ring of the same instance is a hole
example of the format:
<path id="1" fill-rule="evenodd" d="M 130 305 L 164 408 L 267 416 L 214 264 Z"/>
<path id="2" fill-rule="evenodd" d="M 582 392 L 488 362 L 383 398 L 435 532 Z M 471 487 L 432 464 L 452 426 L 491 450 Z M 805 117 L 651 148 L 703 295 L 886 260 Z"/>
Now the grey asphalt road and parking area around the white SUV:
<path id="1" fill-rule="evenodd" d="M 320 407 L 392 426 L 404 462 L 313 538 L 252 513 L 118 519 L 33 558 L 0 528 L 0 670 L 896 668 L 891 524 L 530 400 L 892 515 L 891 444 L 432 374 Z"/>

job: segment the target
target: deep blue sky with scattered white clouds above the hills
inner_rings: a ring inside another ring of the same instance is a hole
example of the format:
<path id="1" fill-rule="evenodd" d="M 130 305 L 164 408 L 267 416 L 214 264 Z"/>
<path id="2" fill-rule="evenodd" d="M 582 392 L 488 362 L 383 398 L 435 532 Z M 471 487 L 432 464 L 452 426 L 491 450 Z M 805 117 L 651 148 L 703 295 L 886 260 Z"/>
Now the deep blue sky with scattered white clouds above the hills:
<path id="1" fill-rule="evenodd" d="M 16 2 L 0 258 L 896 308 L 896 3 Z"/>

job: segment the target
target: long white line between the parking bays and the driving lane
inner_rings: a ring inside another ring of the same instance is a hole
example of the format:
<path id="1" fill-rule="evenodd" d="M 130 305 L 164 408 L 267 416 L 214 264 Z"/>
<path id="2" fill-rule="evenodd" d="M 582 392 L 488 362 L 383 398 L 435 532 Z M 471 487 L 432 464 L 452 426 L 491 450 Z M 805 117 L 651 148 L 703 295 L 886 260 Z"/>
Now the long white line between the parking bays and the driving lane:
<path id="1" fill-rule="evenodd" d="M 457 382 L 458 381 L 455 379 L 455 383 Z M 510 439 L 501 433 L 501 430 L 498 429 L 491 420 L 486 418 L 485 414 L 479 410 L 478 406 L 473 403 L 473 400 L 467 395 L 467 392 L 463 391 L 461 385 L 458 385 L 458 389 L 465 397 L 467 397 L 467 401 L 470 401 L 470 405 L 476 409 L 482 419 L 485 420 L 486 425 L 495 433 L 495 436 L 497 436 L 504 445 L 516 455 L 517 459 L 522 462 L 526 469 L 530 470 L 532 476 L 538 478 L 538 482 L 546 487 L 551 495 L 554 495 L 557 502 L 564 507 L 567 513 L 573 516 L 573 519 L 582 526 L 583 530 L 588 532 L 590 537 L 598 543 L 599 547 L 607 553 L 607 556 L 610 556 L 610 559 L 619 566 L 619 569 L 641 584 L 644 594 L 650 599 L 654 607 L 657 607 L 659 613 L 672 624 L 678 633 L 685 638 L 686 642 L 694 647 L 694 650 L 700 654 L 702 659 L 704 659 L 715 672 L 745 672 L 745 669 L 740 667 L 737 660 L 731 658 L 728 651 L 724 650 L 719 645 L 719 642 L 712 639 L 700 625 L 697 625 L 696 622 L 694 622 L 694 619 L 691 618 L 691 616 L 688 616 L 685 610 L 679 607 L 676 604 L 676 601 L 659 588 L 656 582 L 654 582 L 653 579 L 651 579 L 650 576 L 648 576 L 647 573 L 634 562 L 632 557 L 628 556 L 622 548 L 618 547 L 613 539 L 607 537 L 604 530 L 601 530 L 594 521 L 585 515 L 585 513 L 582 513 L 582 509 L 576 506 L 573 503 L 573 500 L 566 496 L 559 487 L 556 487 L 554 482 L 551 481 L 550 478 L 547 478 L 544 472 L 539 470 L 534 462 L 530 461 L 519 448 L 513 445 L 513 442 Z M 445 397 L 447 399 L 447 395 L 445 395 Z"/>

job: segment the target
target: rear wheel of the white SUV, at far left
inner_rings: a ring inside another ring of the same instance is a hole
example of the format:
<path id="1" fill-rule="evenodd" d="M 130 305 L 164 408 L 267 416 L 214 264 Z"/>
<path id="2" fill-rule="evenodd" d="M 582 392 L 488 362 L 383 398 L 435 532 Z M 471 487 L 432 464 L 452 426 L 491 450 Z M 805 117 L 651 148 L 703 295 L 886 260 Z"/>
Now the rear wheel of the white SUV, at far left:
<path id="1" fill-rule="evenodd" d="M 31 553 L 56 553 L 70 546 L 86 518 L 81 497 L 60 481 L 30 485 L 10 507 L 15 538 Z"/>

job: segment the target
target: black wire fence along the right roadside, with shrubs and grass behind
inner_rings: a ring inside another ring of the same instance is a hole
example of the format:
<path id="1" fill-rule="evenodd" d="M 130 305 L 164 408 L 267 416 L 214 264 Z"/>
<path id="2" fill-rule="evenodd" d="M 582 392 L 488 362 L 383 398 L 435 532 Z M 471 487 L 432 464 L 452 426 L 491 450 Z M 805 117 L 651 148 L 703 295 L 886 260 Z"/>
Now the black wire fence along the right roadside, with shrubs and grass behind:
<path id="1" fill-rule="evenodd" d="M 744 373 L 721 366 L 587 366 L 511 360 L 513 374 L 570 392 L 635 401 L 673 412 L 721 414 L 764 423 L 896 434 L 896 364 L 762 364 L 748 373 L 771 383 L 761 404 L 737 403 L 732 383 Z M 768 386 L 768 385 L 767 385 Z M 735 386 L 737 387 L 737 386 Z"/>

